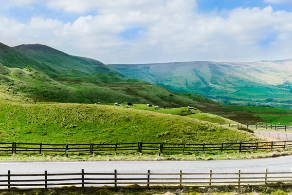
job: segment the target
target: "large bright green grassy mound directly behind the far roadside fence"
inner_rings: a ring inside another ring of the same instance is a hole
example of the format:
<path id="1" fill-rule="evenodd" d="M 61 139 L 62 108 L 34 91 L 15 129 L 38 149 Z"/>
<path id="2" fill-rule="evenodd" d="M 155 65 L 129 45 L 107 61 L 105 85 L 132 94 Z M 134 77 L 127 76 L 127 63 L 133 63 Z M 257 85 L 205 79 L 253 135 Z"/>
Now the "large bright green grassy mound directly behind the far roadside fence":
<path id="1" fill-rule="evenodd" d="M 0 135 L 2 141 L 37 143 L 207 143 L 258 139 L 193 118 L 94 104 L 1 104 Z"/>

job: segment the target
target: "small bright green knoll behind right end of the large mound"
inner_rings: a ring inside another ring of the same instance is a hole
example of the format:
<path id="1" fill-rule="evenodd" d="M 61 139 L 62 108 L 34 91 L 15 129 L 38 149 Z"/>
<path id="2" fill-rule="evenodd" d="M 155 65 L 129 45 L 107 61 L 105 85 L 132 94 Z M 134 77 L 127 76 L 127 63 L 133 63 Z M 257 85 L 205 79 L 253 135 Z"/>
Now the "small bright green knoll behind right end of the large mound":
<path id="1" fill-rule="evenodd" d="M 236 122 L 234 120 L 230 120 L 228 118 L 220 117 L 218 115 L 213 115 L 213 114 L 209 114 L 209 113 L 198 113 L 198 114 L 189 115 L 187 117 L 197 118 L 199 120 L 208 121 L 208 122 L 212 122 L 212 123 L 238 124 L 238 122 Z"/>

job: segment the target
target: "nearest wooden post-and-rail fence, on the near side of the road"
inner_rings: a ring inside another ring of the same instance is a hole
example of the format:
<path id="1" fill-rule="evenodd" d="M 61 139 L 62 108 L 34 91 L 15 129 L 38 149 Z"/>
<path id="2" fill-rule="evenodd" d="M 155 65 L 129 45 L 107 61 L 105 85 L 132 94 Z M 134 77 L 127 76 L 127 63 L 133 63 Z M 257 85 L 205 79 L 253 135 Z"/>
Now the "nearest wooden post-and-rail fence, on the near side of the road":
<path id="1" fill-rule="evenodd" d="M 75 186 L 100 187 L 100 188 L 159 188 L 159 187 L 206 187 L 206 186 L 245 186 L 262 185 L 277 186 L 291 185 L 292 172 L 264 172 L 243 173 L 240 170 L 234 173 L 153 173 L 150 170 L 147 173 L 118 173 L 117 170 L 107 173 L 81 172 L 76 173 L 48 173 L 42 174 L 13 174 L 8 171 L 7 174 L 0 175 L 0 188 L 38 188 L 49 189 L 54 187 Z"/>

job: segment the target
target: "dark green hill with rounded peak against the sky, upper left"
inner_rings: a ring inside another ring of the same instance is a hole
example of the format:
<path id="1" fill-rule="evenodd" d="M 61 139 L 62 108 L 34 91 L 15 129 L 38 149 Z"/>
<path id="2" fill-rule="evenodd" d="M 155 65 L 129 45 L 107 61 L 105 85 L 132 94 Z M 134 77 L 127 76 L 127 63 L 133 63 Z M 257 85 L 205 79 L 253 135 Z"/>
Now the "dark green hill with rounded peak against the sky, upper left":
<path id="1" fill-rule="evenodd" d="M 18 45 L 13 47 L 18 52 L 32 59 L 46 64 L 57 71 L 57 77 L 87 76 L 93 73 L 112 74 L 120 78 L 127 78 L 121 72 L 103 64 L 102 62 L 84 57 L 71 56 L 52 47 L 41 44 Z M 43 71 L 47 74 L 46 71 Z"/>

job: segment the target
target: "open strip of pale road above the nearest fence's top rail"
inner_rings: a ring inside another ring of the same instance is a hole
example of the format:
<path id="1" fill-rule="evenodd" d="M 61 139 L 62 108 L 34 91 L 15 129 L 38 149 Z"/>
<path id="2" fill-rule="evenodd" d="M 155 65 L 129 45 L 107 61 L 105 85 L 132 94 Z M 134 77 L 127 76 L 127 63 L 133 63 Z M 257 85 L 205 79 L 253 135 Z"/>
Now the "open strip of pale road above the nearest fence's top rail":
<path id="1" fill-rule="evenodd" d="M 16 162 L 0 163 L 0 174 L 7 173 L 43 173 L 49 172 L 76 172 L 84 169 L 94 172 L 233 172 L 241 169 L 242 172 L 264 171 L 291 171 L 292 156 L 277 158 L 250 159 L 250 160 L 216 160 L 216 161 L 130 161 L 130 162 Z"/>

